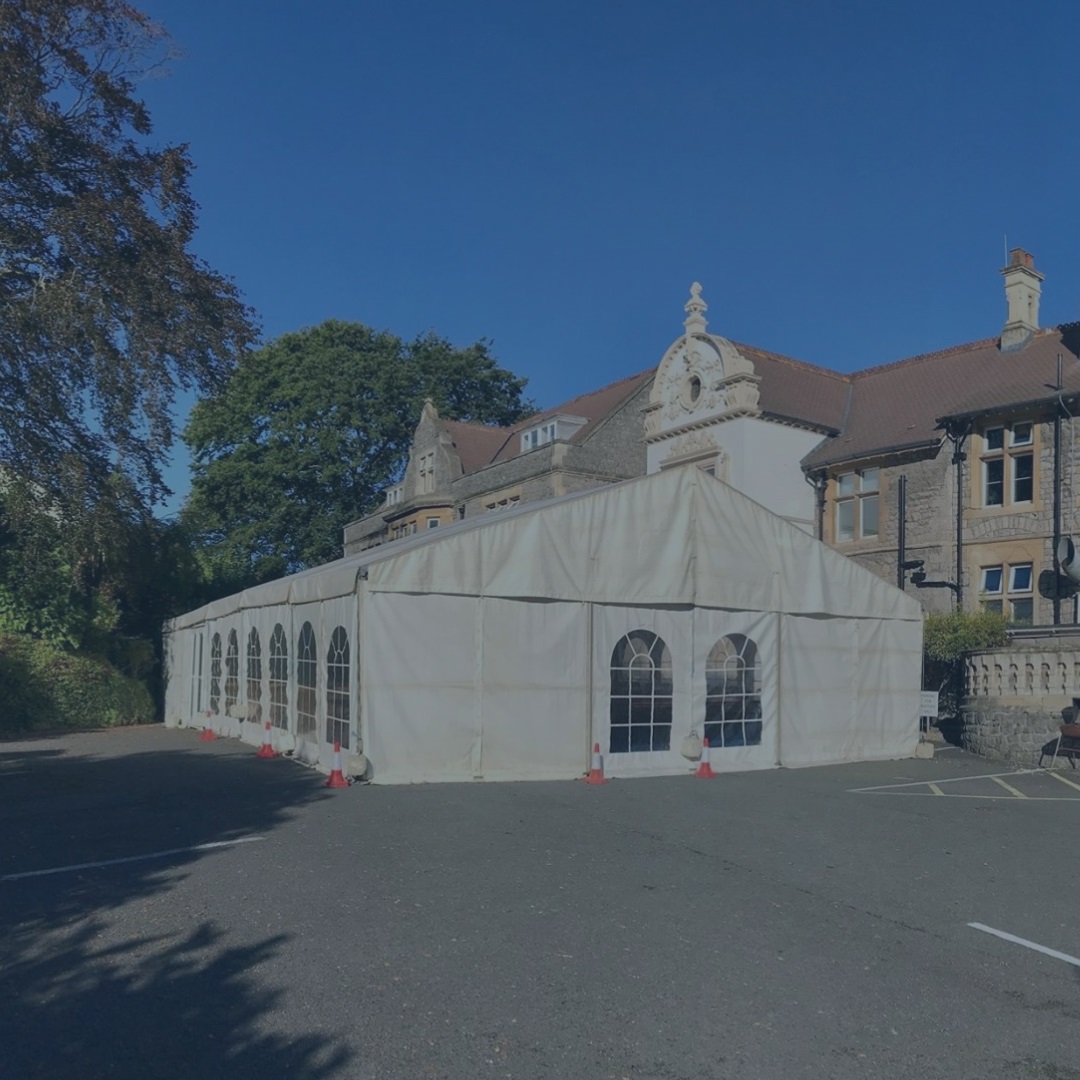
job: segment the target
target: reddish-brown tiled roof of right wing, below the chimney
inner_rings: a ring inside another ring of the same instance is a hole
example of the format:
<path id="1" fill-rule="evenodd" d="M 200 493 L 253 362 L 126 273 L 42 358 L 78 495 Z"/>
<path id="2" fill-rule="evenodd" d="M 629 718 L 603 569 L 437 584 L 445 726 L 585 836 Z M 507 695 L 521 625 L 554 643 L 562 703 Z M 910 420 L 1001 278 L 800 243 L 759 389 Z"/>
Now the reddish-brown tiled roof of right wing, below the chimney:
<path id="1" fill-rule="evenodd" d="M 987 338 L 856 372 L 842 433 L 825 440 L 804 464 L 930 445 L 942 438 L 944 417 L 1045 401 L 1054 394 L 1058 353 L 1065 391 L 1078 393 L 1078 332 L 1075 324 L 1040 330 L 1024 349 L 1004 353 L 998 338 Z"/>

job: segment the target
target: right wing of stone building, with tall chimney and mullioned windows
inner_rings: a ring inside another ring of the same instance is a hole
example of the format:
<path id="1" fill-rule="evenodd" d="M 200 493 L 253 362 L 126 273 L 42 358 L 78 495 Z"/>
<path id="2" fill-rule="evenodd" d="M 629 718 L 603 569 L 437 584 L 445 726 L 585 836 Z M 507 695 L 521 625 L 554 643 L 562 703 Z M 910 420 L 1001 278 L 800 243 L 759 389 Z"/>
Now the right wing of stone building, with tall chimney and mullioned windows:
<path id="1" fill-rule="evenodd" d="M 802 468 L 822 539 L 896 581 L 906 480 L 906 559 L 947 583 L 920 590 L 928 609 L 958 600 L 1017 624 L 1075 622 L 1071 599 L 1055 618 L 1053 595 L 1055 537 L 1077 525 L 1080 326 L 1039 326 L 1030 255 L 1012 252 L 1002 273 L 999 336 L 851 375 L 842 429 Z"/>

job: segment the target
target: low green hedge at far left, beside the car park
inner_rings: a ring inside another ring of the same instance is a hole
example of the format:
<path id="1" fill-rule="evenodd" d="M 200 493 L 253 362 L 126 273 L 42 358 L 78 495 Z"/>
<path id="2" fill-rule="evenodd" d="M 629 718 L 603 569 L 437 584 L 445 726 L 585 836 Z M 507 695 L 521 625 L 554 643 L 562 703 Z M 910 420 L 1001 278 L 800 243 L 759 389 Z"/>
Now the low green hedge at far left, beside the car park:
<path id="1" fill-rule="evenodd" d="M 103 728 L 154 719 L 149 690 L 102 657 L 0 635 L 0 731 Z"/>

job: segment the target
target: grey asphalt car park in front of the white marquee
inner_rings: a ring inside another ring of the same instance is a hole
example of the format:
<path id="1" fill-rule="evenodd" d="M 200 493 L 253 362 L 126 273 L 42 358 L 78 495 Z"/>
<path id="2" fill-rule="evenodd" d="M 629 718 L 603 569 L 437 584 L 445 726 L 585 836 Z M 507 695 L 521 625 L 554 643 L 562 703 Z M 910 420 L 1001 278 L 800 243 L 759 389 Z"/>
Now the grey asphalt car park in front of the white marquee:
<path id="1" fill-rule="evenodd" d="M 190 731 L 2 743 L 0 1076 L 1075 1080 L 1058 773 L 332 792 Z"/>

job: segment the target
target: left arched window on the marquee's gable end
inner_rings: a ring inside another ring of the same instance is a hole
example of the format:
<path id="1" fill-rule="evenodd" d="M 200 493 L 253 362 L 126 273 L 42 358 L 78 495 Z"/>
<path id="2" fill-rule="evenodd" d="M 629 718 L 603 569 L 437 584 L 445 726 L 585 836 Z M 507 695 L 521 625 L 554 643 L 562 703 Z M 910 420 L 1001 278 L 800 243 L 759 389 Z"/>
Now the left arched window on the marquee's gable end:
<path id="1" fill-rule="evenodd" d="M 663 638 L 632 630 L 611 653 L 610 753 L 670 750 L 672 656 Z"/>

